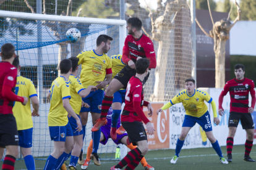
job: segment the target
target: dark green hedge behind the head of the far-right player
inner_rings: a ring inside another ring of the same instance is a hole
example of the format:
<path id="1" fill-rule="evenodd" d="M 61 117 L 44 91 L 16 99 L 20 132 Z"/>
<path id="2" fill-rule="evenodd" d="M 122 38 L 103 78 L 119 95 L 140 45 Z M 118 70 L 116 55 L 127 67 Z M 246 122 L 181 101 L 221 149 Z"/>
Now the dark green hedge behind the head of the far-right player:
<path id="1" fill-rule="evenodd" d="M 234 66 L 241 63 L 245 67 L 245 78 L 252 79 L 256 82 L 256 56 L 250 55 L 230 55 L 230 77 L 236 78 L 234 75 Z"/>

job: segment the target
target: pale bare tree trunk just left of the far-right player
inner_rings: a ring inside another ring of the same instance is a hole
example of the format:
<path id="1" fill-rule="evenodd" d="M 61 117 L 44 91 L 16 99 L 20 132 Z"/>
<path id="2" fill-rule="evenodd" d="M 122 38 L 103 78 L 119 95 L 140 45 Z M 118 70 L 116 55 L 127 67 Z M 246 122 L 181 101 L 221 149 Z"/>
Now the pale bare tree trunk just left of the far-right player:
<path id="1" fill-rule="evenodd" d="M 226 39 L 218 39 L 215 49 L 215 88 L 225 85 Z"/>

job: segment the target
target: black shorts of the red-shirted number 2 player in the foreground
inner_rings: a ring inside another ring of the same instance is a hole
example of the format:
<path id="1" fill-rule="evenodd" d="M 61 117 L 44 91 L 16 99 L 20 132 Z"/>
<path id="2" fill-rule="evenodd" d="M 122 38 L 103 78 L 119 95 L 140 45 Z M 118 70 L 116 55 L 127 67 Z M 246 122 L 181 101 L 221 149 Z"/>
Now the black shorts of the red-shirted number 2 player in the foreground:
<path id="1" fill-rule="evenodd" d="M 124 127 L 124 129 L 126 130 L 128 134 L 129 142 L 132 143 L 132 145 L 135 146 L 137 145 L 136 142 L 139 142 L 142 140 L 148 140 L 147 132 L 145 131 L 145 128 L 142 122 L 122 121 L 122 127 Z"/>

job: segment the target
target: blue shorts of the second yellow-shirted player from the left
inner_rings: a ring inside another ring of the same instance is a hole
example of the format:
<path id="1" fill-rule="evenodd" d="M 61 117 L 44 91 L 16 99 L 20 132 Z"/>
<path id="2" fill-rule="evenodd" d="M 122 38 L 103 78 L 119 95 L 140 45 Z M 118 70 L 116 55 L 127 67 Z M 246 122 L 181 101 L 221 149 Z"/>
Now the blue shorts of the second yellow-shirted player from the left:
<path id="1" fill-rule="evenodd" d="M 66 142 L 66 136 L 73 136 L 69 122 L 66 126 L 49 126 L 49 132 L 53 141 Z"/>

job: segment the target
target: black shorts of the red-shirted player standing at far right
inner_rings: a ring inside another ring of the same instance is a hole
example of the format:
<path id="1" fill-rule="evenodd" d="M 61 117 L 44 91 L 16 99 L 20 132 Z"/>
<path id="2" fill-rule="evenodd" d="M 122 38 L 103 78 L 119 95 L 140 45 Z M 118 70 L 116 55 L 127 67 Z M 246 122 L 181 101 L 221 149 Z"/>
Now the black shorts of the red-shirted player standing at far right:
<path id="1" fill-rule="evenodd" d="M 230 112 L 228 119 L 228 127 L 237 127 L 239 120 L 242 124 L 242 129 L 254 129 L 254 121 L 250 113 Z"/>

